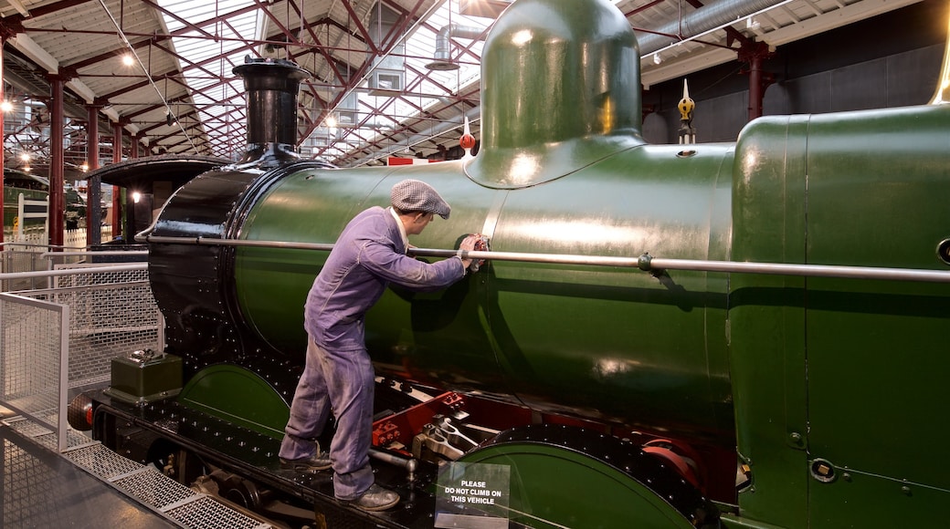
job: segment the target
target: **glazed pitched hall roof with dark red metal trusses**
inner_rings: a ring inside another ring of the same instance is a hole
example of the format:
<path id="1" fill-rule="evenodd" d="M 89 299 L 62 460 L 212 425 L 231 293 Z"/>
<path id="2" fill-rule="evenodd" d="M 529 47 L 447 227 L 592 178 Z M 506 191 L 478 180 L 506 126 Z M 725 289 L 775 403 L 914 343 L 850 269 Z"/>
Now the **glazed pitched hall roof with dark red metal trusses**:
<path id="1" fill-rule="evenodd" d="M 504 7 L 502 0 L 485 1 Z M 694 10 L 678 0 L 614 1 L 635 29 L 656 31 Z M 736 38 L 781 46 L 916 1 L 776 0 L 777 8 L 754 20 L 737 17 L 699 38 L 671 38 L 667 44 L 676 41 L 674 46 L 658 48 L 658 64 L 653 53 L 642 59 L 643 82 L 649 86 L 734 61 Z M 35 101 L 45 94 L 35 92 L 47 83 L 44 72 L 66 74 L 70 127 L 85 119 L 82 105 L 95 101 L 103 106 L 103 117 L 120 119 L 152 154 L 236 158 L 246 141 L 245 100 L 233 67 L 245 55 L 293 60 L 314 74 L 300 94 L 301 151 L 353 165 L 409 148 L 428 154 L 452 146 L 463 117 L 477 119 L 482 41 L 451 39 L 448 61 L 459 69 L 426 67 L 441 29 L 491 24 L 491 18 L 460 14 L 458 5 L 457 0 L 10 0 L 0 6 L 0 24 L 16 34 L 6 45 L 13 53 L 7 54 L 5 72 L 15 92 L 42 105 Z M 647 41 L 649 34 L 639 32 L 638 38 Z M 730 44 L 732 49 L 725 47 Z M 130 49 L 138 57 L 133 66 L 121 59 Z M 329 126 L 331 117 L 336 127 Z M 33 134 L 26 123 L 21 130 L 15 137 Z M 473 133 L 478 134 L 477 122 Z M 39 140 L 32 147 L 46 148 Z"/>

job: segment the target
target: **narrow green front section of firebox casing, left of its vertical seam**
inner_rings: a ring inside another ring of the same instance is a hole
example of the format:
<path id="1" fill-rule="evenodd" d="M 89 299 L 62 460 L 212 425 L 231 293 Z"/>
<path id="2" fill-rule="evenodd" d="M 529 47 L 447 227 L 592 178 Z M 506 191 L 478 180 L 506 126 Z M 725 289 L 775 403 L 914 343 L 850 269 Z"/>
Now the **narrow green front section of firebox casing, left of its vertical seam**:
<path id="1" fill-rule="evenodd" d="M 805 207 L 784 178 L 804 173 L 804 163 L 780 154 L 803 148 L 807 123 L 760 120 L 754 127 L 736 147 L 732 260 L 804 263 Z M 804 284 L 783 276 L 731 277 L 732 399 L 739 453 L 750 460 L 754 479 L 740 504 L 750 519 L 783 527 L 807 520 Z M 802 435 L 802 445 L 793 433 Z"/>

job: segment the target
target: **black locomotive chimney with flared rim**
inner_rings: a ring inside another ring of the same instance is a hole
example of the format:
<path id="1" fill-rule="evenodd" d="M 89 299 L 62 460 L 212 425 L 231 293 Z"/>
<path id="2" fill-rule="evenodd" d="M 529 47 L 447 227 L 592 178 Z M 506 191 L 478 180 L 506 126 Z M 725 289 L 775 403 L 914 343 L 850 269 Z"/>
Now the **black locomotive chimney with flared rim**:
<path id="1" fill-rule="evenodd" d="M 247 152 L 237 163 L 273 167 L 295 161 L 300 82 L 310 72 L 283 59 L 252 59 L 235 66 L 247 91 Z"/>

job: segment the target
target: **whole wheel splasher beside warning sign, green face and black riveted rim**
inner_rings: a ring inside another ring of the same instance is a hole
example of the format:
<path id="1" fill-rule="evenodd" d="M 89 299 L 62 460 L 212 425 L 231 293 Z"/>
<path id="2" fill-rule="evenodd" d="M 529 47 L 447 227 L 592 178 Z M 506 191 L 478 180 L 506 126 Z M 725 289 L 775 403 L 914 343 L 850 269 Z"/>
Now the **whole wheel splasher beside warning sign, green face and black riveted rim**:
<path id="1" fill-rule="evenodd" d="M 718 527 L 718 510 L 638 447 L 585 429 L 511 429 L 461 460 L 508 465 L 509 519 L 529 527 Z"/>

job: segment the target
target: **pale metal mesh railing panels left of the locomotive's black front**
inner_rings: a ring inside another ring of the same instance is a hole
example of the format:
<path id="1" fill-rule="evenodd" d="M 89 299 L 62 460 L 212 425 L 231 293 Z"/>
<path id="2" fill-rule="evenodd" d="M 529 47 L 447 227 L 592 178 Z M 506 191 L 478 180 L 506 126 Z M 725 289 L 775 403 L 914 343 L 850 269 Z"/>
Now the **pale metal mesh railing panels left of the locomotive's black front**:
<path id="1" fill-rule="evenodd" d="M 0 274 L 3 283 L 40 278 L 49 284 L 0 294 L 0 406 L 55 431 L 62 451 L 69 393 L 107 382 L 115 356 L 163 350 L 164 325 L 147 264 L 54 268 Z"/>

